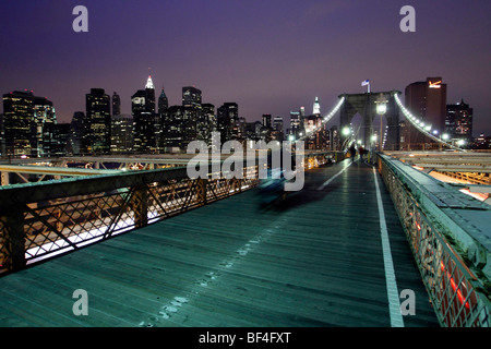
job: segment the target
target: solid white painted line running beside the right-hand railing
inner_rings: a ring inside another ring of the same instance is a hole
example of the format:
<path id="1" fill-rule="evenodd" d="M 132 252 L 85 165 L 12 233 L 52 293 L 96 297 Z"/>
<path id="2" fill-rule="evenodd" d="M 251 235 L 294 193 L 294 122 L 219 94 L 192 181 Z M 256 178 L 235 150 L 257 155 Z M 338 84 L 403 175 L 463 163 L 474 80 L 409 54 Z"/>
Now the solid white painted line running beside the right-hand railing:
<path id="1" fill-rule="evenodd" d="M 400 313 L 399 294 L 397 291 L 397 282 L 395 279 L 394 263 L 392 261 L 391 243 L 388 242 L 387 225 L 385 222 L 385 213 L 382 204 L 382 195 L 380 193 L 379 180 L 376 171 L 373 168 L 373 178 L 376 186 L 376 203 L 379 206 L 380 231 L 382 238 L 382 251 L 384 256 L 385 281 L 387 286 L 388 313 L 391 315 L 392 327 L 404 327 L 403 314 Z"/>

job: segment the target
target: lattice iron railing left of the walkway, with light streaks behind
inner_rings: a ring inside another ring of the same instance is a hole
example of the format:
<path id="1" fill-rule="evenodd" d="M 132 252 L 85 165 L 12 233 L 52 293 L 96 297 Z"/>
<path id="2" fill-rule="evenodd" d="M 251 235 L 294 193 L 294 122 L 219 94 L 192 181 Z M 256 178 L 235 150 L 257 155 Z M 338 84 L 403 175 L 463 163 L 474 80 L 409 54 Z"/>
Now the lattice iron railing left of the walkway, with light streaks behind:
<path id="1" fill-rule="evenodd" d="M 185 168 L 164 169 L 2 190 L 0 272 L 252 189 L 258 167 L 246 167 L 244 173 L 244 179 L 221 173 L 189 179 Z"/>

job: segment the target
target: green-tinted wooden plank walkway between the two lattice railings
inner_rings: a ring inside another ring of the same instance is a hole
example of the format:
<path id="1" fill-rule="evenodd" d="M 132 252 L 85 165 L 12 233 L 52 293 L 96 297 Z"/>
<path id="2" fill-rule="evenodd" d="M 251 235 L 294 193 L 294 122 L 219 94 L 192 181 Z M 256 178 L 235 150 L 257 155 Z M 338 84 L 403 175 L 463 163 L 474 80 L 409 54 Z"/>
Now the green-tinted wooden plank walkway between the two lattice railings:
<path id="1" fill-rule="evenodd" d="M 306 172 L 282 204 L 251 190 L 0 277 L 0 326 L 388 327 L 374 172 L 349 161 Z M 397 296 L 416 294 L 404 326 L 439 326 L 379 185 Z"/>

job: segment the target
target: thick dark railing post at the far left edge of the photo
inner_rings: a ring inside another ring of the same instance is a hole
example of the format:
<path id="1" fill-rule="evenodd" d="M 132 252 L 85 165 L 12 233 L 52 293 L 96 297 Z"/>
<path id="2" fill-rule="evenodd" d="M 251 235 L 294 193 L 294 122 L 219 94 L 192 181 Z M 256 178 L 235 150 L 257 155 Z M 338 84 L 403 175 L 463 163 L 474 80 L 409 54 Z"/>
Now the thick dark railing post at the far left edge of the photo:
<path id="1" fill-rule="evenodd" d="M 9 253 L 5 265 L 11 270 L 20 270 L 26 265 L 24 209 L 22 207 L 7 209 L 0 220 L 3 225 L 4 245 Z"/>

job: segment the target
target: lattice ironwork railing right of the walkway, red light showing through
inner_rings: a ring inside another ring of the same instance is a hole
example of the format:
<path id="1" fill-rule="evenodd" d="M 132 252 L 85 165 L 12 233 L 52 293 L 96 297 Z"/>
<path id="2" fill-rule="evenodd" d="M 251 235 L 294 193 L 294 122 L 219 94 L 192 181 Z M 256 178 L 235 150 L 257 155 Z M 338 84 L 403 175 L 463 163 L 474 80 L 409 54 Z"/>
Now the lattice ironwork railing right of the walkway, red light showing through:
<path id="1" fill-rule="evenodd" d="M 483 286 L 480 280 L 380 158 L 379 169 L 440 323 L 447 327 L 489 327 L 491 304 L 481 292 Z"/>

